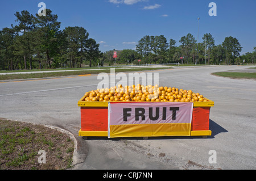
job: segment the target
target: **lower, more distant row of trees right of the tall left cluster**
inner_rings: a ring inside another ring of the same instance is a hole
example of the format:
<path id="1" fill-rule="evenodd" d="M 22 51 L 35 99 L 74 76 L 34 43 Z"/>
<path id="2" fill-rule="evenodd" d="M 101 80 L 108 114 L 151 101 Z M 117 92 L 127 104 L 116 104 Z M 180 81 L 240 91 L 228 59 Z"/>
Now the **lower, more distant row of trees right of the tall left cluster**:
<path id="1" fill-rule="evenodd" d="M 240 55 L 241 44 L 235 37 L 225 37 L 222 44 L 216 45 L 214 37 L 205 33 L 201 43 L 188 33 L 180 38 L 179 46 L 176 40 L 166 37 L 146 35 L 138 41 L 136 50 L 117 50 L 117 62 L 121 64 L 241 64 L 255 63 L 256 47 L 253 52 Z M 113 51 L 103 54 L 101 60 L 113 64 Z M 138 62 L 141 60 L 141 62 Z"/>

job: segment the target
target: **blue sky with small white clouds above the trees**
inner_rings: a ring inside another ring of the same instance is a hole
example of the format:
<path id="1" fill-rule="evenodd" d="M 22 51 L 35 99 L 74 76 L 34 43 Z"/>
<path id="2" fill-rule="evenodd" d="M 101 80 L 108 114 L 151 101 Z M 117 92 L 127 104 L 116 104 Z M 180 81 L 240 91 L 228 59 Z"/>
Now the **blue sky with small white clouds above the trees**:
<path id="1" fill-rule="evenodd" d="M 61 29 L 68 26 L 84 27 L 100 43 L 102 52 L 112 49 L 135 49 L 146 35 L 164 35 L 167 40 L 191 33 L 199 42 L 204 33 L 211 33 L 215 44 L 225 37 L 236 37 L 241 54 L 256 47 L 255 0 L 9 0 L 0 5 L 0 29 L 15 22 L 15 12 L 28 10 L 35 15 L 39 2 L 59 15 Z M 209 16 L 210 2 L 217 5 L 217 16 Z"/>

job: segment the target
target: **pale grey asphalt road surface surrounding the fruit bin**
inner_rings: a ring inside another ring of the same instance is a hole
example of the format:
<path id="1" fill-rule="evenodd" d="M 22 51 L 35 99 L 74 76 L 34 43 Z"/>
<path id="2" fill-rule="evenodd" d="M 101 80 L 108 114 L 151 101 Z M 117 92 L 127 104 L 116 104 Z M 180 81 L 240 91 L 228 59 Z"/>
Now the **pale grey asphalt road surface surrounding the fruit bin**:
<path id="1" fill-rule="evenodd" d="M 256 169 L 256 81 L 210 75 L 249 66 L 200 66 L 157 70 L 159 85 L 200 92 L 214 101 L 212 136 L 90 138 L 82 140 L 80 107 L 101 80 L 86 77 L 0 82 L 0 117 L 53 125 L 74 134 L 79 164 L 74 169 Z M 217 163 L 209 163 L 215 150 Z"/>

